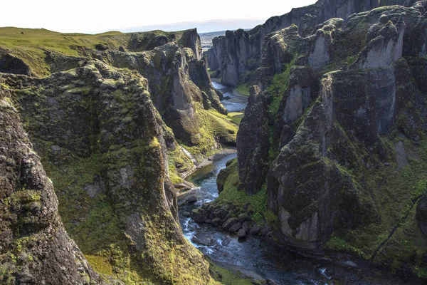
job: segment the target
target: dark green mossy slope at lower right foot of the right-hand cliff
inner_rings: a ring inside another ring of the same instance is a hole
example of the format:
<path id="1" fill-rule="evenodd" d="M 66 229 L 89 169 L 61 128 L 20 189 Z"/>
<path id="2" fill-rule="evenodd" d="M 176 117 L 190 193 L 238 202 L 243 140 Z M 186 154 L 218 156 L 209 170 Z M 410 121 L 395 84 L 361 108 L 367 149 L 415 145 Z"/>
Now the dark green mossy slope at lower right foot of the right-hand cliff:
<path id="1" fill-rule="evenodd" d="M 381 138 L 381 141 L 386 147 L 396 142 L 388 138 Z M 423 249 L 427 248 L 427 238 L 416 224 L 414 201 L 427 189 L 427 142 L 412 145 L 410 140 L 403 141 L 406 152 L 412 155 L 408 156 L 409 164 L 399 172 L 396 172 L 396 163 L 384 166 L 373 151 L 352 145 L 352 152 L 358 155 L 355 159 L 380 166 L 369 170 L 364 165 L 354 166 L 348 170 L 339 165 L 339 169 L 352 177 L 362 206 L 374 207 L 362 211 L 376 214 L 369 215 L 371 220 L 356 229 L 335 232 L 334 238 L 327 243 L 328 249 L 353 252 L 365 259 L 371 259 L 380 249 L 374 261 L 394 269 L 402 262 L 421 260 L 426 252 Z M 396 232 L 390 237 L 395 227 Z"/>

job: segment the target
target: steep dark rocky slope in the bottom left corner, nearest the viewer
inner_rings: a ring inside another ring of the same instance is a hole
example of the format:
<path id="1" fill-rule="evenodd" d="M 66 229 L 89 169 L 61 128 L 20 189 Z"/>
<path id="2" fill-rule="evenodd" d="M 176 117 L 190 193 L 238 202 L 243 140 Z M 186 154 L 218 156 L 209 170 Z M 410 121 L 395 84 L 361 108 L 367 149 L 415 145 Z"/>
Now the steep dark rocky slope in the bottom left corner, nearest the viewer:
<path id="1" fill-rule="evenodd" d="M 0 87 L 0 282 L 103 284 L 68 237 L 58 199 Z"/>

